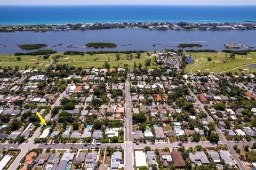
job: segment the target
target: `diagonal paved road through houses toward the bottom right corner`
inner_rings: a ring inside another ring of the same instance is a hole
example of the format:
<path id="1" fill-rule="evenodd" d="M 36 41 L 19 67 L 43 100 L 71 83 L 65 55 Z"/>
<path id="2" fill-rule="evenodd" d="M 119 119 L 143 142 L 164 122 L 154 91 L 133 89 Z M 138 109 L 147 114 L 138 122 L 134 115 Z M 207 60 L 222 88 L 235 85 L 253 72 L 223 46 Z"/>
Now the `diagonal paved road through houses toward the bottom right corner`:
<path id="1" fill-rule="evenodd" d="M 199 106 L 199 107 L 201 108 L 201 110 L 202 110 L 203 112 L 205 112 L 205 114 L 207 114 L 207 118 L 206 118 L 207 121 L 208 121 L 208 122 L 214 122 L 213 118 L 212 118 L 211 116 L 209 116 L 208 112 L 207 112 L 207 111 L 205 110 L 205 108 L 204 108 L 204 105 L 198 100 L 197 96 L 190 90 L 190 88 L 188 88 L 188 89 L 189 89 L 189 94 L 190 94 L 191 96 L 193 96 L 194 99 L 195 99 L 195 104 L 197 104 L 197 106 Z M 224 136 L 224 134 L 221 132 L 221 130 L 220 130 L 218 127 L 215 128 L 215 131 L 219 134 L 220 141 L 221 141 L 223 144 L 226 144 L 226 145 L 228 146 L 228 150 L 229 150 L 229 152 L 231 153 L 231 156 L 232 156 L 232 157 L 234 158 L 234 160 L 236 161 L 237 166 L 238 166 L 241 170 L 246 170 L 246 169 L 247 169 L 246 166 L 244 165 L 243 161 L 239 159 L 239 157 L 238 157 L 236 151 L 233 149 L 233 145 L 230 144 L 230 142 L 226 140 L 226 137 Z"/>

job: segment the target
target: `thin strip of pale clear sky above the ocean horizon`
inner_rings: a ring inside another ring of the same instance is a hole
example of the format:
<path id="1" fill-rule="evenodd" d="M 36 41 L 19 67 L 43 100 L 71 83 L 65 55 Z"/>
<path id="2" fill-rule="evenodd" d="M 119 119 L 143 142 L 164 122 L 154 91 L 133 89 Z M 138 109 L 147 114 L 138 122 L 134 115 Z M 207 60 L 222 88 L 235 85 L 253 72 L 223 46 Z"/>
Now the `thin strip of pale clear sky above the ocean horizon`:
<path id="1" fill-rule="evenodd" d="M 256 5 L 256 0 L 0 0 L 0 5 Z"/>

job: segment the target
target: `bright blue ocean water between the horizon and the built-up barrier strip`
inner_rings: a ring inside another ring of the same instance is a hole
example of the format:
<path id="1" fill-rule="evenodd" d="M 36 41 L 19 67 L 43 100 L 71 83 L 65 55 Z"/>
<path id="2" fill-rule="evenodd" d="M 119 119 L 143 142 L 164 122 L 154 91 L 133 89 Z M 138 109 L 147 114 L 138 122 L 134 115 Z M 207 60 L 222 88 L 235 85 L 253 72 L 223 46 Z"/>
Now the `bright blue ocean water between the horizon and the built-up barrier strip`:
<path id="1" fill-rule="evenodd" d="M 0 6 L 0 25 L 67 22 L 256 21 L 256 6 L 86 5 Z"/>

